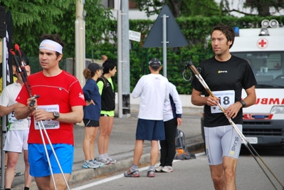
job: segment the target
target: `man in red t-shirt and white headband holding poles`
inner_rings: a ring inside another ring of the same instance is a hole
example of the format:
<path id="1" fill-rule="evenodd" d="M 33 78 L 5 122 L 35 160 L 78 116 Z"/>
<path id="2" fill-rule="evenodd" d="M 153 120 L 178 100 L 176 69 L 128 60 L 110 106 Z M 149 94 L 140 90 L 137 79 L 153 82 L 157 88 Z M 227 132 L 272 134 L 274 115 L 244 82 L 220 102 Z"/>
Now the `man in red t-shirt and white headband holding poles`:
<path id="1" fill-rule="evenodd" d="M 57 189 L 66 189 L 65 179 L 69 181 L 74 158 L 73 123 L 83 120 L 85 99 L 77 78 L 59 68 L 64 43 L 60 36 L 44 34 L 39 46 L 39 62 L 43 70 L 28 77 L 31 89 L 22 88 L 16 101 L 16 118 L 31 115 L 31 127 L 28 134 L 28 162 L 30 174 L 34 176 L 39 189 L 53 189 L 51 171 L 46 163 L 46 143 Z M 29 92 L 29 93 L 28 93 Z M 39 95 L 38 99 L 31 97 Z M 33 106 L 30 105 L 35 100 Z M 46 129 L 52 144 L 43 137 L 39 127 Z M 61 174 L 52 147 L 63 170 Z"/>

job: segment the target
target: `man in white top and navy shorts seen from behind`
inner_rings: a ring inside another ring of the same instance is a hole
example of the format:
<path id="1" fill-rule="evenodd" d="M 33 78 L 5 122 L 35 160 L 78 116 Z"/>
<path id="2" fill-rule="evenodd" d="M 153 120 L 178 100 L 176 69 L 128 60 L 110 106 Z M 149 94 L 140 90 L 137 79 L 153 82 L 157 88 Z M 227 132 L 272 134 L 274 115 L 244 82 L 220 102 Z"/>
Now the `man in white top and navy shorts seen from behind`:
<path id="1" fill-rule="evenodd" d="M 132 97 L 140 97 L 136 142 L 132 167 L 125 171 L 127 177 L 140 176 L 138 164 L 143 153 L 144 140 L 151 141 L 151 165 L 147 176 L 154 177 L 154 165 L 159 156 L 158 140 L 165 139 L 163 108 L 164 102 L 169 99 L 169 80 L 159 74 L 162 65 L 159 59 L 152 58 L 149 62 L 149 75 L 143 75 L 136 84 Z"/>

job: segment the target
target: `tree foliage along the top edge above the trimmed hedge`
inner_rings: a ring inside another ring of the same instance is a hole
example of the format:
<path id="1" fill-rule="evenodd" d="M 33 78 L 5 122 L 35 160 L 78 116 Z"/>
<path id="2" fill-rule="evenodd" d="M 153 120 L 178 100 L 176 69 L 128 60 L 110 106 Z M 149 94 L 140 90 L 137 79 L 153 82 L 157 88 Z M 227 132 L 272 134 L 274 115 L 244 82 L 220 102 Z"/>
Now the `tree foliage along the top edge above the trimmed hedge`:
<path id="1" fill-rule="evenodd" d="M 243 0 L 243 8 L 251 7 L 251 11 L 257 10 L 258 14 L 246 13 L 236 9 L 230 9 L 233 0 L 221 0 L 216 4 L 214 0 L 132 0 L 137 4 L 140 11 L 145 11 L 147 16 L 159 14 L 162 6 L 167 5 L 171 9 L 174 18 L 179 16 L 226 16 L 236 11 L 251 16 L 270 16 L 270 8 L 275 12 L 284 8 L 284 0 Z"/>

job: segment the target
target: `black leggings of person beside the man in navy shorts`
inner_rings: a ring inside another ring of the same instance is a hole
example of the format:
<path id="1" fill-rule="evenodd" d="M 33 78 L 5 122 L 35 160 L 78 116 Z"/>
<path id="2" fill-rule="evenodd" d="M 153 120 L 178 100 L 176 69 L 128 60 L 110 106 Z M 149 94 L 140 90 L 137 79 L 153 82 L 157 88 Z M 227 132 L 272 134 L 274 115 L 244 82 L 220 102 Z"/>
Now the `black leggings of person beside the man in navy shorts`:
<path id="1" fill-rule="evenodd" d="M 172 162 L 176 154 L 176 133 L 177 133 L 177 118 L 164 122 L 164 131 L 166 139 L 161 140 L 161 167 L 172 167 Z"/>

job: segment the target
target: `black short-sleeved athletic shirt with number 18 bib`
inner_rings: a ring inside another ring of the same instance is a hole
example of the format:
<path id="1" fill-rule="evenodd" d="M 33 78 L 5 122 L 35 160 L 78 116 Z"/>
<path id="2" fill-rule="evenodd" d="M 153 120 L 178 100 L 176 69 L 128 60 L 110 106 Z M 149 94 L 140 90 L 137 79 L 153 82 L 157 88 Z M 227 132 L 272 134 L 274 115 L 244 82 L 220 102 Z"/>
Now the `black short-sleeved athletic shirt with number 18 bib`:
<path id="1" fill-rule="evenodd" d="M 216 60 L 215 57 L 209 58 L 202 61 L 199 68 L 201 69 L 199 72 L 210 90 L 216 97 L 221 98 L 219 102 L 223 108 L 241 100 L 242 89 L 246 90 L 256 85 L 256 78 L 248 62 L 233 55 L 224 62 Z M 191 87 L 199 92 L 204 92 L 205 96 L 209 96 L 197 78 L 193 79 Z M 236 124 L 243 125 L 243 111 L 240 110 L 232 120 Z M 205 105 L 204 126 L 217 127 L 222 125 L 230 125 L 230 123 L 220 108 Z"/>

